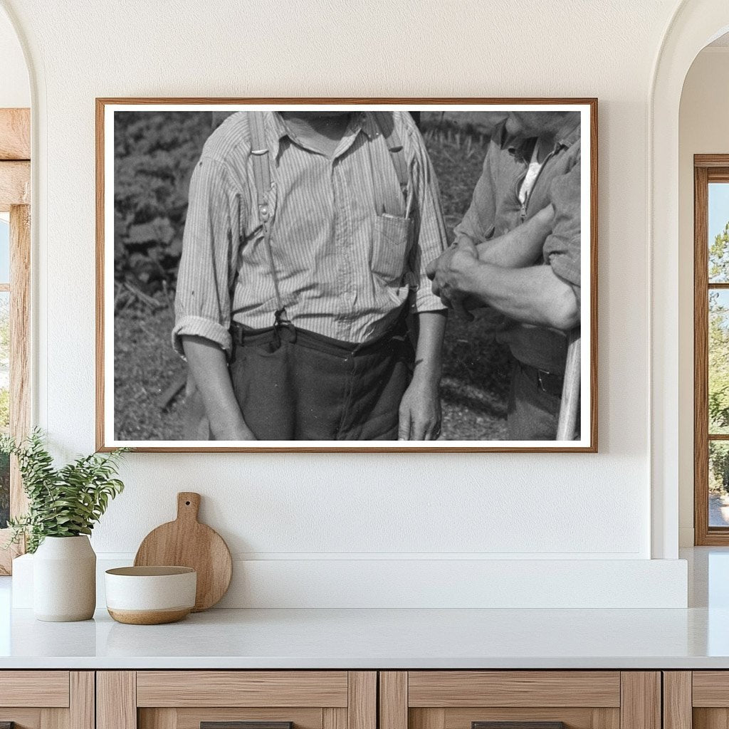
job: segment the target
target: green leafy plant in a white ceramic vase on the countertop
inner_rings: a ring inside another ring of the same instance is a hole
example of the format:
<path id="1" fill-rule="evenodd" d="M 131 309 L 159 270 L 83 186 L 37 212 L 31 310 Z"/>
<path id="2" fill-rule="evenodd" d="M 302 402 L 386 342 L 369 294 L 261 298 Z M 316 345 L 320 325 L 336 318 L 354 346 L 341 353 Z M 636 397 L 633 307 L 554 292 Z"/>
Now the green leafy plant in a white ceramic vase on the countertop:
<path id="1" fill-rule="evenodd" d="M 96 555 L 88 535 L 124 488 L 115 476 L 120 456 L 79 456 L 60 468 L 39 429 L 22 443 L 4 435 L 0 452 L 17 458 L 28 512 L 11 519 L 9 544 L 26 539 L 34 553 L 33 609 L 38 620 L 88 620 L 96 605 Z"/>

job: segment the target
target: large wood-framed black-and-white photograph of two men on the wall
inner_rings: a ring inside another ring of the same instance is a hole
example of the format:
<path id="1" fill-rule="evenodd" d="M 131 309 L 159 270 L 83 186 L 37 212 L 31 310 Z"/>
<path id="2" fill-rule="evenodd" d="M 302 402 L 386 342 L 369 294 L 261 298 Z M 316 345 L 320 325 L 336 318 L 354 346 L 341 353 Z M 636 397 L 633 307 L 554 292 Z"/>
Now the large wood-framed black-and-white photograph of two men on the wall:
<path id="1" fill-rule="evenodd" d="M 597 100 L 96 100 L 97 447 L 597 451 Z"/>

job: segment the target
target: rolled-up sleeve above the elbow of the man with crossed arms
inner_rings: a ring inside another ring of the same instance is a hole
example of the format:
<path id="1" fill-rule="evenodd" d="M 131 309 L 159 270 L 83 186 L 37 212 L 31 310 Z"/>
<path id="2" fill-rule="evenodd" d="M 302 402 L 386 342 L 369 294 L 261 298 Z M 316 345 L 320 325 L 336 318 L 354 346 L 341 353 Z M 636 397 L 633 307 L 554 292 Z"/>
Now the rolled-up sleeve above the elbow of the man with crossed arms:
<path id="1" fill-rule="evenodd" d="M 552 233 L 544 245 L 545 263 L 554 273 L 572 286 L 580 303 L 580 157 L 574 167 L 555 178 L 550 187 L 554 207 Z"/>

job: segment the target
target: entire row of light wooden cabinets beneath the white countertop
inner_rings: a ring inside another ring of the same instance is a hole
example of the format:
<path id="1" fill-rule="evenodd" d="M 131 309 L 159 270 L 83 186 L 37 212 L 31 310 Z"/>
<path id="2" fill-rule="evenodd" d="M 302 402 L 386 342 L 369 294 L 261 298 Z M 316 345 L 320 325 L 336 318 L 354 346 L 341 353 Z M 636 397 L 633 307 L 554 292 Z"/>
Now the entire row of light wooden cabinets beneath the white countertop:
<path id="1" fill-rule="evenodd" d="M 728 729 L 729 671 L 0 671 L 0 729 L 4 722 L 15 729 Z"/>

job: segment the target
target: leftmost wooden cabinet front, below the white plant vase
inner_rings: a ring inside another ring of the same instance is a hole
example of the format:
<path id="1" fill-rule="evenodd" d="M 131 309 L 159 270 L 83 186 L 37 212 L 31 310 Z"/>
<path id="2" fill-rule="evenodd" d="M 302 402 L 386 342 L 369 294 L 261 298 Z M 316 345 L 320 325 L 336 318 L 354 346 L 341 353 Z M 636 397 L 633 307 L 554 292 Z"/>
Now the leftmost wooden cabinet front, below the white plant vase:
<path id="1" fill-rule="evenodd" d="M 93 671 L 0 671 L 4 729 L 94 729 Z"/>

